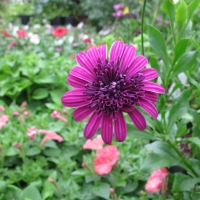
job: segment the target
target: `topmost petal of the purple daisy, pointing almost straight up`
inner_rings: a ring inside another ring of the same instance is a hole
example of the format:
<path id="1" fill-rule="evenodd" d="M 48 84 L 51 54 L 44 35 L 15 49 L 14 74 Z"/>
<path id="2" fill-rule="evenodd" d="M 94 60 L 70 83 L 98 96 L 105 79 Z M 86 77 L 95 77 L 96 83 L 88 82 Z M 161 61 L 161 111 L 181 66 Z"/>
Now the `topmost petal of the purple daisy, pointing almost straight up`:
<path id="1" fill-rule="evenodd" d="M 117 61 L 121 59 L 126 45 L 122 41 L 115 41 L 110 49 L 110 60 Z"/>

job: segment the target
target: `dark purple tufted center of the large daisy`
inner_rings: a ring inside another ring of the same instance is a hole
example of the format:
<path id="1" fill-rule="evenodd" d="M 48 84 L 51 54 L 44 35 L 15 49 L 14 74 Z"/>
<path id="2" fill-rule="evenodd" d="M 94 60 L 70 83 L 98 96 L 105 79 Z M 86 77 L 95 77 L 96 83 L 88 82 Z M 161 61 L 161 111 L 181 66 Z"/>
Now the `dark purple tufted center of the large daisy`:
<path id="1" fill-rule="evenodd" d="M 94 68 L 97 79 L 85 85 L 87 91 L 84 95 L 88 97 L 90 109 L 115 118 L 123 107 L 137 105 L 138 98 L 144 95 L 141 88 L 145 76 L 139 72 L 126 76 L 127 70 L 128 67 L 123 73 L 120 72 L 119 60 L 110 62 L 98 59 Z"/>

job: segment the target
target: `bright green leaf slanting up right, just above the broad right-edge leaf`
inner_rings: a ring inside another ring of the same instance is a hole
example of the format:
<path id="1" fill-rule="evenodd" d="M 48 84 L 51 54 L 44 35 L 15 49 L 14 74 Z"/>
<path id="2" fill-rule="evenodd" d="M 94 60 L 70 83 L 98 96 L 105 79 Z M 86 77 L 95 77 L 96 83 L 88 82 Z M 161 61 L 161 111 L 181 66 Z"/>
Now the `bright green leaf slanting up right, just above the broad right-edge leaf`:
<path id="1" fill-rule="evenodd" d="M 185 53 L 189 39 L 180 39 L 177 43 L 176 46 L 174 47 L 174 60 L 173 64 L 176 63 L 176 61 Z"/>

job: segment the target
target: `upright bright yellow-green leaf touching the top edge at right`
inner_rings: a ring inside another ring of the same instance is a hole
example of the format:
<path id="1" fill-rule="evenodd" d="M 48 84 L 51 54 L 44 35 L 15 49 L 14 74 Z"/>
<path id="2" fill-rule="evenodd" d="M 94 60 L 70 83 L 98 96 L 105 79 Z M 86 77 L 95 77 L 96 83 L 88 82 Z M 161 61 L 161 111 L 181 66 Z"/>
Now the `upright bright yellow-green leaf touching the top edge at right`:
<path id="1" fill-rule="evenodd" d="M 187 5 L 184 1 L 181 1 L 179 7 L 176 10 L 176 21 L 178 25 L 178 33 L 180 35 L 181 30 L 184 28 L 187 20 Z"/>

